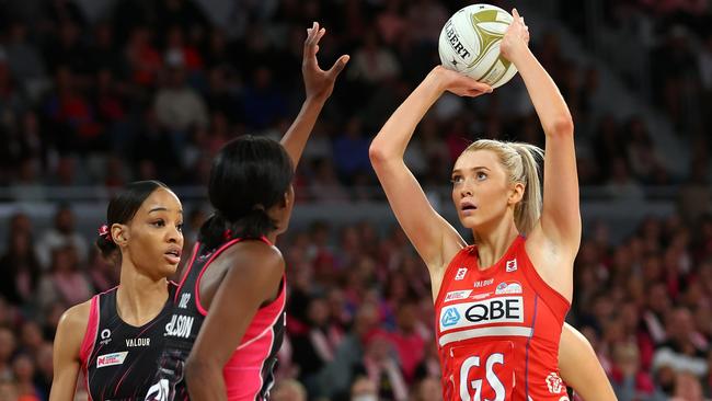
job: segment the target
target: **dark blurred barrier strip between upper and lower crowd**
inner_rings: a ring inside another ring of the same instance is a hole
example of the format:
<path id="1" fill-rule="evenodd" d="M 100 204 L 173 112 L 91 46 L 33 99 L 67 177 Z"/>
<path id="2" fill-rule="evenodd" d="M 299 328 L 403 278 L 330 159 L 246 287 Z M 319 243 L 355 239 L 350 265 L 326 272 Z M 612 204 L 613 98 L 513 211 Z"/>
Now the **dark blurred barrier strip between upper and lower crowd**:
<path id="1" fill-rule="evenodd" d="M 0 188 L 0 250 L 4 248 L 9 234 L 8 222 L 11 216 L 21 211 L 33 220 L 35 232 L 41 232 L 53 224 L 58 204 L 69 204 L 76 215 L 77 229 L 88 237 L 95 236 L 96 228 L 106 218 L 106 205 L 116 190 L 105 187 L 37 187 L 22 191 L 20 188 Z M 210 213 L 200 186 L 173 187 L 183 203 L 186 217 L 196 209 Z M 297 188 L 297 202 L 290 227 L 306 229 L 314 221 L 326 221 L 338 228 L 347 225 L 369 221 L 379 230 L 389 230 L 397 225 L 393 213 L 386 202 L 383 192 L 378 186 L 353 186 L 337 188 Z M 425 187 L 426 196 L 433 207 L 464 238 L 468 230 L 458 224 L 458 216 L 452 205 L 451 187 Z M 665 218 L 677 211 L 679 188 L 675 186 L 641 186 L 638 196 L 623 197 L 602 186 L 584 186 L 581 188 L 581 211 L 585 232 L 599 224 L 610 232 L 612 242 L 623 241 L 634 232 L 640 222 L 648 216 Z M 324 194 L 337 194 L 328 197 Z M 630 193 L 629 193 L 630 194 Z M 42 195 L 42 196 L 39 196 Z M 16 198 L 20 196 L 20 198 Z M 700 199 L 700 202 L 710 202 Z M 712 205 L 707 206 L 712 210 Z"/>

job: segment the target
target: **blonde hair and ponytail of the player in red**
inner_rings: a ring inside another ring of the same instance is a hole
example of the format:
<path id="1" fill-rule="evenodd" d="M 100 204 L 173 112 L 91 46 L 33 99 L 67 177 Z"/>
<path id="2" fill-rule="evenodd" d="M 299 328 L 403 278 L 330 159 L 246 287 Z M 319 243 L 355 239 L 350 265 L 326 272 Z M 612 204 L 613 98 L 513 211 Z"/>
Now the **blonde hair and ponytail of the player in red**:
<path id="1" fill-rule="evenodd" d="M 491 150 L 504 167 L 513 184 L 525 185 L 521 200 L 515 205 L 514 222 L 521 233 L 529 233 L 541 216 L 541 180 L 539 161 L 544 152 L 533 145 L 505 142 L 494 139 L 480 139 L 464 151 Z"/>

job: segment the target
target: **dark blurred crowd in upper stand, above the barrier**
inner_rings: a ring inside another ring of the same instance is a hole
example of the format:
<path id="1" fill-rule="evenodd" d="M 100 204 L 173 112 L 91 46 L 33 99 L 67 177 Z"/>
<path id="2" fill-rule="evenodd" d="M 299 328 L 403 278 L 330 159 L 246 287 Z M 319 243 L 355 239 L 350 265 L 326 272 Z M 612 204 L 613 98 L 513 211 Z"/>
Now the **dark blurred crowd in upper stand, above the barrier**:
<path id="1" fill-rule="evenodd" d="M 289 126 L 303 99 L 306 28 L 319 21 L 328 30 L 322 66 L 341 54 L 352 61 L 314 129 L 298 183 L 312 200 L 372 197 L 354 190 L 376 184 L 370 138 L 439 62 L 439 31 L 467 3 L 244 1 L 234 2 L 229 28 L 221 28 L 190 0 L 123 0 L 91 22 L 70 0 L 2 2 L 0 184 L 9 190 L 0 196 L 42 199 L 55 186 L 115 187 L 148 177 L 204 183 L 226 140 L 278 138 Z M 675 156 L 655 147 L 645 121 L 602 112 L 609 100 L 598 71 L 566 57 L 559 32 L 536 33 L 531 46 L 574 115 L 582 184 L 635 198 L 644 185 L 707 180 L 707 146 L 694 148 L 689 173 L 670 174 L 665 158 Z M 699 62 L 679 56 L 686 71 L 700 68 L 694 77 L 702 81 L 688 87 L 709 92 L 711 51 L 708 43 Z M 653 71 L 655 88 L 675 98 L 680 69 L 667 62 L 668 50 L 659 54 L 666 62 L 651 64 L 665 67 Z M 654 100 L 674 118 L 687 110 Z M 474 101 L 445 96 L 418 127 L 406 161 L 426 185 L 447 185 L 453 159 L 479 137 L 543 145 L 519 78 Z"/>

